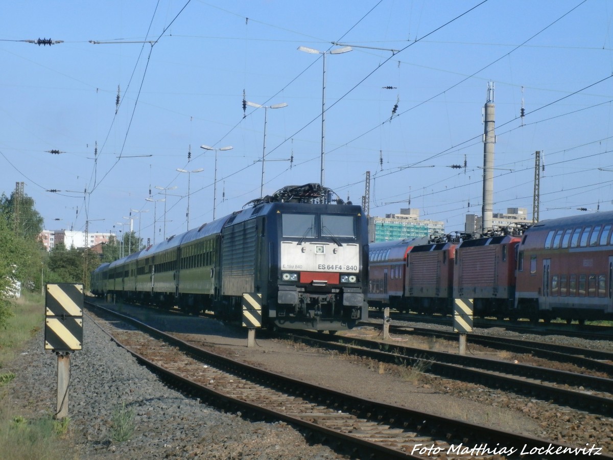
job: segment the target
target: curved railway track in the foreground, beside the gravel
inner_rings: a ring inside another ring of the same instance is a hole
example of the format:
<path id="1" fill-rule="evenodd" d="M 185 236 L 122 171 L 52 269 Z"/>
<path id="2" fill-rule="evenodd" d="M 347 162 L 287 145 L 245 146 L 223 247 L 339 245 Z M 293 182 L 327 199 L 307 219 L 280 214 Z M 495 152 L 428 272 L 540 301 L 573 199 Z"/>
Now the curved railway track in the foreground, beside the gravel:
<path id="1" fill-rule="evenodd" d="M 125 315 L 96 314 L 107 316 L 96 321 L 113 340 L 185 391 L 251 418 L 286 421 L 354 458 L 447 458 L 470 449 L 471 458 L 575 458 L 581 449 L 360 399 L 215 355 Z"/>

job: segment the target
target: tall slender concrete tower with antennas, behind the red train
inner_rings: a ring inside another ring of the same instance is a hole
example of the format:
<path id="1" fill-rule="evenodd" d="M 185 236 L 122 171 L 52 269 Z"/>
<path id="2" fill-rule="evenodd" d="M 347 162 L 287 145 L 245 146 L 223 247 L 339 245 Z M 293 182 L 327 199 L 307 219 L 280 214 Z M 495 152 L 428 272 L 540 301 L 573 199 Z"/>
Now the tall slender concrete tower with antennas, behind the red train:
<path id="1" fill-rule="evenodd" d="M 483 207 L 481 234 L 492 229 L 492 210 L 494 201 L 494 82 L 487 83 L 487 101 L 483 109 Z"/>

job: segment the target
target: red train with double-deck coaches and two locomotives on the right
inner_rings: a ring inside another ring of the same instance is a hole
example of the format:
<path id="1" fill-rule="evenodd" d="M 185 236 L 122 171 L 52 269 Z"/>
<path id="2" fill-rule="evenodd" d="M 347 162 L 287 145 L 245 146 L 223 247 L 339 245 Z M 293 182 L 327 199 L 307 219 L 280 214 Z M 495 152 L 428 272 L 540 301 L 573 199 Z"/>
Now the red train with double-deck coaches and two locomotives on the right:
<path id="1" fill-rule="evenodd" d="M 601 212 L 541 221 L 517 236 L 371 243 L 369 302 L 451 313 L 453 299 L 468 298 L 479 316 L 613 320 L 612 238 L 613 212 Z"/>

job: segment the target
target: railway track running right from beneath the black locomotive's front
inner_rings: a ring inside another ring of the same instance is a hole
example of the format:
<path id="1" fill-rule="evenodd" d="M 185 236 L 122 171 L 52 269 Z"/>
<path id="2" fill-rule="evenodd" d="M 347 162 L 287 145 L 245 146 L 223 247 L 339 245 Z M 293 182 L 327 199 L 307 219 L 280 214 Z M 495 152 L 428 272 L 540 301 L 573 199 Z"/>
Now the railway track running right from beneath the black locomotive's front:
<path id="1" fill-rule="evenodd" d="M 577 410 L 613 416 L 613 380 L 610 378 L 355 337 L 347 339 L 308 331 L 284 335 L 287 339 L 300 340 L 314 347 L 333 348 L 340 353 L 381 362 L 406 366 L 419 363 L 421 367 L 427 367 L 428 372 L 441 377 L 501 388 Z"/>

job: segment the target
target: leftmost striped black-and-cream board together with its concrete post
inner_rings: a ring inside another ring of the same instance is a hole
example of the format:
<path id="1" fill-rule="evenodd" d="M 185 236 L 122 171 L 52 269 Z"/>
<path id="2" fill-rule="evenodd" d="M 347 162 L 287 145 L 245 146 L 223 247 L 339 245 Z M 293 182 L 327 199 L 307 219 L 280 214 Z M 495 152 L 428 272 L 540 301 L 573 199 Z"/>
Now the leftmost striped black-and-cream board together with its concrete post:
<path id="1" fill-rule="evenodd" d="M 70 353 L 83 349 L 83 284 L 47 284 L 45 350 L 58 356 L 58 401 L 55 418 L 68 416 Z"/>

